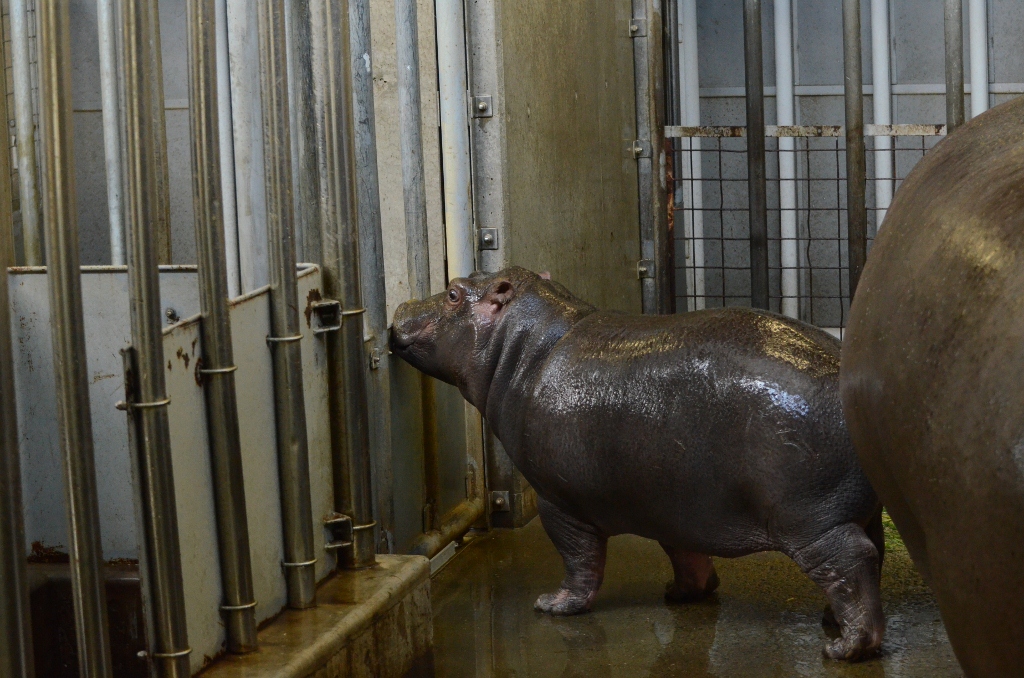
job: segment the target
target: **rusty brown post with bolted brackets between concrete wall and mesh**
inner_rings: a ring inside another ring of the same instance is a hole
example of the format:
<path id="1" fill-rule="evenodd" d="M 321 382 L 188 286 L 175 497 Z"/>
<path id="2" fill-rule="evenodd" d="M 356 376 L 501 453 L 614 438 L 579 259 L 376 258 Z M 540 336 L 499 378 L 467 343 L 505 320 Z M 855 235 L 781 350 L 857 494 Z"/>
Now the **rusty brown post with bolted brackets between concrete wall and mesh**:
<path id="1" fill-rule="evenodd" d="M 675 296 L 669 271 L 669 187 L 665 167 L 665 75 L 662 62 L 662 3 L 633 0 L 633 73 L 636 88 L 637 181 L 640 193 L 641 300 L 645 313 L 670 313 Z M 646 28 L 644 31 L 643 29 Z M 641 35 L 641 34 L 645 35 Z M 639 152 L 639 153 L 637 153 Z"/>

